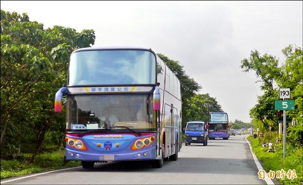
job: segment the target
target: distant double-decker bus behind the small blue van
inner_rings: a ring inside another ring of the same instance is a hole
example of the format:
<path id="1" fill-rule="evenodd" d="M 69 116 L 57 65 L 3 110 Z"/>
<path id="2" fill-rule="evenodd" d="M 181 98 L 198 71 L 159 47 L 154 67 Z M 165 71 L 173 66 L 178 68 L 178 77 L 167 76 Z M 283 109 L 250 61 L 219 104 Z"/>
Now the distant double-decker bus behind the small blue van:
<path id="1" fill-rule="evenodd" d="M 226 112 L 210 112 L 208 120 L 209 139 L 229 138 L 228 115 Z"/>

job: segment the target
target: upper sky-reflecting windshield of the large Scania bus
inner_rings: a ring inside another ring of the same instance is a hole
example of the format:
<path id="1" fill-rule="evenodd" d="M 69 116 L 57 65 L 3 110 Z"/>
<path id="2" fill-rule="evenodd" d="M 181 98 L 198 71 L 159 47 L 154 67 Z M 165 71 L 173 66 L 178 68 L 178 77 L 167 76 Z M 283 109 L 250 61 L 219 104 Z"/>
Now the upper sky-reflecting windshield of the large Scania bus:
<path id="1" fill-rule="evenodd" d="M 83 50 L 70 58 L 69 86 L 155 83 L 156 57 L 146 50 Z"/>

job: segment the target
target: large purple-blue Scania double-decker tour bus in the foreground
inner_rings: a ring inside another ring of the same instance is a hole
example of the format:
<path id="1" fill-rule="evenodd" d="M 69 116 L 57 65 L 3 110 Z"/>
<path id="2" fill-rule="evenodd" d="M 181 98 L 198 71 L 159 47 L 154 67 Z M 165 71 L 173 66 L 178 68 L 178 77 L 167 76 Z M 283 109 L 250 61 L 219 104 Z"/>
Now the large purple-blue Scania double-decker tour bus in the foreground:
<path id="1" fill-rule="evenodd" d="M 89 47 L 72 52 L 66 95 L 66 159 L 150 160 L 162 167 L 181 149 L 180 81 L 148 48 Z"/>

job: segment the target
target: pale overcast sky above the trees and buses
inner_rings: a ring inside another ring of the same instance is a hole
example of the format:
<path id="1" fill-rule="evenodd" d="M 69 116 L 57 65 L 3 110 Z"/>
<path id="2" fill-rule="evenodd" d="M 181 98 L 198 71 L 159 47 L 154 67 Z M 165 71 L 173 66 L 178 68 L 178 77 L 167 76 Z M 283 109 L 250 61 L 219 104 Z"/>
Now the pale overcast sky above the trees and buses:
<path id="1" fill-rule="evenodd" d="M 1 9 L 27 13 L 44 29 L 93 29 L 95 46 L 151 47 L 178 60 L 231 121 L 250 122 L 263 94 L 241 59 L 257 49 L 282 63 L 284 47 L 302 48 L 302 1 L 1 1 Z"/>

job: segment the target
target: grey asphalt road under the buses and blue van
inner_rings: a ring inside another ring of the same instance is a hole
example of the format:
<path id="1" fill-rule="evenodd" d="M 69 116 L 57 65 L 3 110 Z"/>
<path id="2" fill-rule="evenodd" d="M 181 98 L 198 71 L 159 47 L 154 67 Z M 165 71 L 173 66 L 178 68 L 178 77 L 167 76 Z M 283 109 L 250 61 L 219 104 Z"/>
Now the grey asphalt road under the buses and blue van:
<path id="1" fill-rule="evenodd" d="M 266 184 L 258 177 L 246 135 L 229 140 L 209 140 L 208 146 L 182 146 L 177 161 L 164 161 L 162 168 L 151 168 L 148 161 L 96 163 L 44 173 L 1 184 Z"/>

